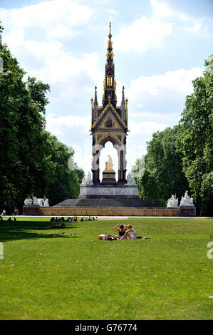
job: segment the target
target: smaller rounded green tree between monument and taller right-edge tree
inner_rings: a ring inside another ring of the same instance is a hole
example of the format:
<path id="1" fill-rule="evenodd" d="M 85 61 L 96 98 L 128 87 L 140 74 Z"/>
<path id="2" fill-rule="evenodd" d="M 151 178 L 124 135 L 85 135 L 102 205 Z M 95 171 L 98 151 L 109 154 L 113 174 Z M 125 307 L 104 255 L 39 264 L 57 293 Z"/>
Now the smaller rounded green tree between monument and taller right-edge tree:
<path id="1" fill-rule="evenodd" d="M 135 178 L 140 197 L 165 206 L 171 195 L 180 199 L 189 190 L 182 172 L 182 128 L 176 125 L 152 135 L 147 143 L 145 174 Z"/>

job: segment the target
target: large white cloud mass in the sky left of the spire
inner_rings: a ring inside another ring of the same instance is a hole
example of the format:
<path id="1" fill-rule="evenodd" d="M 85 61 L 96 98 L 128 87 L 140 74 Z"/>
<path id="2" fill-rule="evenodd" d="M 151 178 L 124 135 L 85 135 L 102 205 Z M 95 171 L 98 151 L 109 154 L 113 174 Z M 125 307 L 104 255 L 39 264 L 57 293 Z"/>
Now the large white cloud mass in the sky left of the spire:
<path id="1" fill-rule="evenodd" d="M 78 29 L 92 14 L 88 6 L 71 0 L 42 1 L 20 9 L 0 8 L 4 42 L 30 76 L 51 84 L 51 88 L 60 84 L 55 89 L 58 98 L 71 98 L 77 92 L 88 92 L 88 86 L 93 91 L 94 81 L 103 80 L 98 53 L 76 57 L 62 41 L 79 34 Z"/>

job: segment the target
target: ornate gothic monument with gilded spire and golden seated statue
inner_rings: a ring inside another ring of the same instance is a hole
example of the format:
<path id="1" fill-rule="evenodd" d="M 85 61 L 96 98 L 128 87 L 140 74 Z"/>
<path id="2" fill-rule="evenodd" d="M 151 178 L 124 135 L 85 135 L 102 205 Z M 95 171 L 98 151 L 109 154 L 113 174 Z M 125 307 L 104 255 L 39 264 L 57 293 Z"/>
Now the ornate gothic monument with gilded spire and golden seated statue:
<path id="1" fill-rule="evenodd" d="M 102 105 L 98 105 L 97 87 L 95 98 L 91 98 L 91 135 L 93 138 L 92 176 L 90 173 L 80 185 L 80 198 L 135 198 L 139 199 L 135 180 L 126 176 L 126 139 L 128 135 L 128 99 L 125 99 L 124 87 L 121 104 L 117 106 L 115 64 L 113 61 L 113 42 L 111 24 L 108 35 L 108 51 L 103 81 Z M 100 176 L 100 152 L 110 141 L 118 153 L 118 181 L 115 180 L 113 161 L 108 155 L 105 170 Z"/>

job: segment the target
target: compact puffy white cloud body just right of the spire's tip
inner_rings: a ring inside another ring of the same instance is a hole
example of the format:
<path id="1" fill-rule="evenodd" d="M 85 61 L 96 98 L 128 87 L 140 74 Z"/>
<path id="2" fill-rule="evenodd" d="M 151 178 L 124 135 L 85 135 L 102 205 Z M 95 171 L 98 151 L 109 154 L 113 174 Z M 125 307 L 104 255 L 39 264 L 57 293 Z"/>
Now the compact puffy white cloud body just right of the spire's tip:
<path id="1" fill-rule="evenodd" d="M 172 32 L 172 24 L 158 19 L 142 16 L 130 26 L 124 26 L 113 38 L 114 48 L 118 51 L 137 51 L 143 53 L 148 48 L 160 46 L 165 36 Z"/>

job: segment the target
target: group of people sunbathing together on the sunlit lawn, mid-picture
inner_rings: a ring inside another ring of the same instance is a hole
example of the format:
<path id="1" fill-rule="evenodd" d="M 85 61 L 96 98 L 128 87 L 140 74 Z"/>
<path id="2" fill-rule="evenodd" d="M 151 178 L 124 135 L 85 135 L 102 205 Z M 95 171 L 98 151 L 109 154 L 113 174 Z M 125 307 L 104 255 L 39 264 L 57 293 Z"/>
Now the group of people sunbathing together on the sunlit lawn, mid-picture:
<path id="1" fill-rule="evenodd" d="M 107 239 L 109 241 L 119 240 L 119 239 L 137 239 L 136 230 L 132 225 L 115 225 L 114 230 L 118 231 L 118 234 L 100 234 L 98 235 L 98 239 Z"/>

